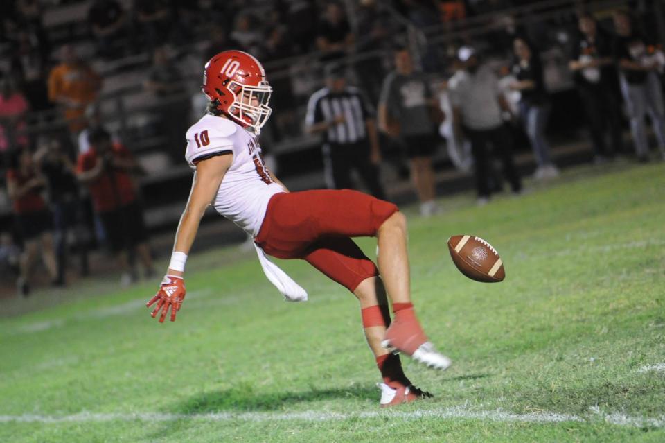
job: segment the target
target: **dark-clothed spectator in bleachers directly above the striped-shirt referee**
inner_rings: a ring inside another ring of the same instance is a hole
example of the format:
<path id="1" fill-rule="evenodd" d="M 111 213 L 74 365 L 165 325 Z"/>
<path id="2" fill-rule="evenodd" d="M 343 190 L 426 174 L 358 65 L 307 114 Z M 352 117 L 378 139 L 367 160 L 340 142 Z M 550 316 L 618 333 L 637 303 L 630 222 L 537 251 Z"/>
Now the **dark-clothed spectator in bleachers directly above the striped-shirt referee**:
<path id="1" fill-rule="evenodd" d="M 343 57 L 354 40 L 342 6 L 334 1 L 328 3 L 317 35 L 317 48 L 323 53 L 321 60 Z"/>

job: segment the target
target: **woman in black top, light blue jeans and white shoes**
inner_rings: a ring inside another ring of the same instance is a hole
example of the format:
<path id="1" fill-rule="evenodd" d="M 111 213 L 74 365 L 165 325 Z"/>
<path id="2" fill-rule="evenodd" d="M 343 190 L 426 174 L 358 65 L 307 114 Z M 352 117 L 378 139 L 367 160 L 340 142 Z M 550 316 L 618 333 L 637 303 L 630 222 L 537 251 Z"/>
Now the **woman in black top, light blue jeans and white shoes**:
<path id="1" fill-rule="evenodd" d="M 534 177 L 538 180 L 553 178 L 559 175 L 559 171 L 552 163 L 549 144 L 544 137 L 550 108 L 540 55 L 522 37 L 513 40 L 513 51 L 516 58 L 513 73 L 517 81 L 511 89 L 521 94 L 520 114 L 538 164 Z"/>

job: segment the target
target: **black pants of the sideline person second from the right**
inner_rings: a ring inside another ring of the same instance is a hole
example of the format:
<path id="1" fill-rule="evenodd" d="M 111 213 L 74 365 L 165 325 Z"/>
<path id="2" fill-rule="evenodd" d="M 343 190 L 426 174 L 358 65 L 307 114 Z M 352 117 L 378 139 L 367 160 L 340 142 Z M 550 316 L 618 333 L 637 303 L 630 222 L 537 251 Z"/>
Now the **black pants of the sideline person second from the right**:
<path id="1" fill-rule="evenodd" d="M 618 97 L 611 87 L 604 83 L 585 85 L 578 88 L 584 110 L 589 120 L 591 139 L 596 155 L 614 155 L 623 151 L 621 134 L 621 109 Z M 605 133 L 610 132 L 612 150 L 605 144 Z"/>

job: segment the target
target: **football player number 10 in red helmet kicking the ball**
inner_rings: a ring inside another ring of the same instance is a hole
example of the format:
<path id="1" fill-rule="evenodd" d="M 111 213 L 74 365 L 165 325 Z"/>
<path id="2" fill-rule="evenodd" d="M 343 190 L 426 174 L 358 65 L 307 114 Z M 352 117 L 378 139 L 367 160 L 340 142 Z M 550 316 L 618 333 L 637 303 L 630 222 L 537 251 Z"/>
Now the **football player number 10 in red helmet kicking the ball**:
<path id="1" fill-rule="evenodd" d="M 270 116 L 272 89 L 253 56 L 218 53 L 206 64 L 203 83 L 208 112 L 186 136 L 186 159 L 195 170 L 192 189 L 166 277 L 146 304 L 157 304 L 152 317 L 163 322 L 170 309 L 174 321 L 181 309 L 187 254 L 206 207 L 213 205 L 254 237 L 267 277 L 287 299 L 307 294 L 265 254 L 304 259 L 359 299 L 366 340 L 384 381 L 382 406 L 429 397 L 414 388 L 395 354 L 441 370 L 450 365 L 427 340 L 411 304 L 405 216 L 392 203 L 349 189 L 290 193 L 268 171 L 256 136 Z M 357 236 L 378 238 L 378 268 L 351 240 Z"/>

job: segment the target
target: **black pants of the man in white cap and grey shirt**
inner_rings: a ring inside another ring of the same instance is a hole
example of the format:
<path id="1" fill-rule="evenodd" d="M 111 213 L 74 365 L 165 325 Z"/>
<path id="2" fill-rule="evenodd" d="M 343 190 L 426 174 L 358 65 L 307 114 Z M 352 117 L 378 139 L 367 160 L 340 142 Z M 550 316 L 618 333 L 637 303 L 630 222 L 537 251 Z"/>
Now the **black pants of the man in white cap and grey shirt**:
<path id="1" fill-rule="evenodd" d="M 478 196 L 489 197 L 491 193 L 492 157 L 489 150 L 490 144 L 495 155 L 502 161 L 504 177 L 511 184 L 511 189 L 513 189 L 513 192 L 519 192 L 522 189 L 522 182 L 513 163 L 513 139 L 508 128 L 505 125 L 489 130 L 464 128 L 464 134 L 471 142 Z"/>

